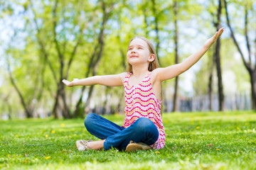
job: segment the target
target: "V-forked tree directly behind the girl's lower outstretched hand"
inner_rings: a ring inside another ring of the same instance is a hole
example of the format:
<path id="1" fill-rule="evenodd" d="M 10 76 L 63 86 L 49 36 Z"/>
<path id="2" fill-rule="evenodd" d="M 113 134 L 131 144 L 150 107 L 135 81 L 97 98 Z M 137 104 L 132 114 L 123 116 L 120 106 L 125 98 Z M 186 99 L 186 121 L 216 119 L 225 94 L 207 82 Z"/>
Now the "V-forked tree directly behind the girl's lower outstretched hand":
<path id="1" fill-rule="evenodd" d="M 30 4 L 34 13 L 33 23 L 37 31 L 36 40 L 50 68 L 53 82 L 57 85 L 54 94 L 53 115 L 55 118 L 59 117 L 57 113 L 59 108 L 64 118 L 71 118 L 70 107 L 66 101 L 65 85 L 62 80 L 68 79 L 71 64 L 77 55 L 78 47 L 82 45 L 85 30 L 88 29 L 88 24 L 94 15 L 94 13 L 90 13 L 85 19 L 85 13 L 82 11 L 94 11 L 94 9 L 86 1 L 75 3 L 56 0 L 48 6 L 44 4 L 43 9 L 46 11 L 46 15 L 44 15 L 44 13 L 36 11 L 36 6 L 32 1 Z M 72 6 L 76 6 L 76 8 Z M 50 11 L 52 15 L 50 15 Z M 38 23 L 38 21 L 43 21 L 43 23 Z M 51 28 L 48 27 L 48 24 Z M 70 35 L 73 35 L 74 38 Z M 54 60 L 53 57 L 57 57 L 58 60 Z"/>

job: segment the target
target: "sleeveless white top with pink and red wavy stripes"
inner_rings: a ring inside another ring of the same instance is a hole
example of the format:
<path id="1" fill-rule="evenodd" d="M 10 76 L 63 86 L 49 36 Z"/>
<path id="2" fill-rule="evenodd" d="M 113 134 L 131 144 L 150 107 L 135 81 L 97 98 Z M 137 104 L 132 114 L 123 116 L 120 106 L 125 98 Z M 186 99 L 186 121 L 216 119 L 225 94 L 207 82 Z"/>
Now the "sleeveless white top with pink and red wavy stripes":
<path id="1" fill-rule="evenodd" d="M 124 108 L 123 127 L 128 128 L 139 118 L 149 118 L 159 130 L 159 138 L 151 147 L 161 149 L 164 147 L 166 137 L 161 119 L 161 100 L 159 101 L 153 92 L 150 79 L 151 73 L 140 84 L 134 86 L 129 86 L 128 83 L 131 75 L 131 73 L 127 73 L 124 78 L 126 106 Z"/>

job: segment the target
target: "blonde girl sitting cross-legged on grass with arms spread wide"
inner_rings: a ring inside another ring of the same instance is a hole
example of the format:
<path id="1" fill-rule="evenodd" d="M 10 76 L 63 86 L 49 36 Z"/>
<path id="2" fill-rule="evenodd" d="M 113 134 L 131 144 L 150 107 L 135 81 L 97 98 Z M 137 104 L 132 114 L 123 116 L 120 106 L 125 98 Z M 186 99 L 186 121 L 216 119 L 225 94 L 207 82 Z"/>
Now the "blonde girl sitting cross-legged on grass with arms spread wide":
<path id="1" fill-rule="evenodd" d="M 85 118 L 85 128 L 100 141 L 78 140 L 78 150 L 87 149 L 161 149 L 165 144 L 165 132 L 161 119 L 161 82 L 177 77 L 198 62 L 211 45 L 223 33 L 223 28 L 208 39 L 201 50 L 180 64 L 159 68 L 152 43 L 143 37 L 133 38 L 127 50 L 127 72 L 95 76 L 86 79 L 63 80 L 67 86 L 124 86 L 125 118 L 119 126 L 100 115 L 90 113 Z"/>

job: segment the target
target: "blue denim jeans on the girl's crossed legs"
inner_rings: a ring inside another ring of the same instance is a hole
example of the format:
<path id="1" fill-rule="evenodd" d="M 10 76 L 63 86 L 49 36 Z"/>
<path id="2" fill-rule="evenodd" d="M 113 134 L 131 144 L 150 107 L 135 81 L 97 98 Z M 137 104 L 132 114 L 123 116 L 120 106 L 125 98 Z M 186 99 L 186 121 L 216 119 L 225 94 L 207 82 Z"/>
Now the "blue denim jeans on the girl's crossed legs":
<path id="1" fill-rule="evenodd" d="M 149 118 L 139 118 L 128 128 L 123 128 L 100 115 L 90 113 L 85 118 L 85 128 L 95 137 L 105 140 L 104 149 L 125 149 L 130 140 L 153 145 L 159 137 L 156 125 Z"/>

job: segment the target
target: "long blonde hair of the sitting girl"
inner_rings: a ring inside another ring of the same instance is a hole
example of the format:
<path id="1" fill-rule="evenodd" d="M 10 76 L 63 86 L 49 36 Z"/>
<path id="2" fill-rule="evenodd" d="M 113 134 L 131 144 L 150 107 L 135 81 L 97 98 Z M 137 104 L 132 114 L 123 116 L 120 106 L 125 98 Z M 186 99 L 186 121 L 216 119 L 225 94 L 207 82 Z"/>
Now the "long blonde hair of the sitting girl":
<path id="1" fill-rule="evenodd" d="M 159 61 L 157 60 L 157 56 L 156 56 L 156 50 L 154 48 L 154 45 L 152 44 L 152 42 L 150 40 L 148 40 L 147 38 L 144 38 L 142 36 L 136 36 L 134 38 L 132 38 L 132 40 L 136 39 L 136 38 L 140 38 L 142 40 L 144 40 L 146 42 L 146 44 L 148 45 L 149 47 L 149 52 L 153 55 L 155 55 L 155 59 L 153 62 L 149 62 L 149 72 L 152 72 L 154 69 L 156 68 L 159 68 Z M 130 40 L 129 43 L 132 42 L 132 40 Z M 128 63 L 128 66 L 127 66 L 127 72 L 130 72 L 132 73 L 132 65 Z"/>

